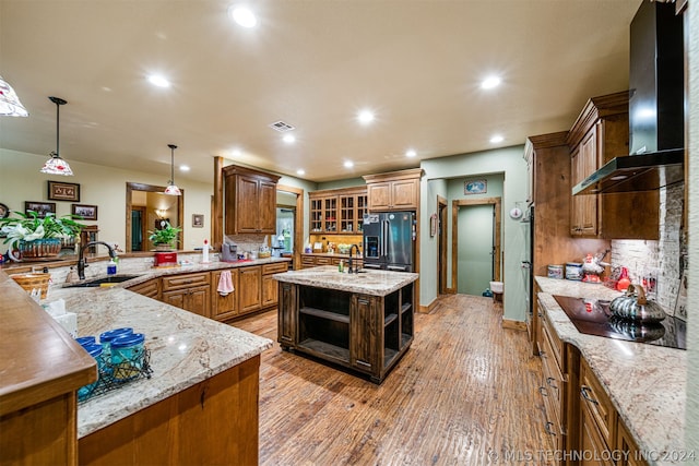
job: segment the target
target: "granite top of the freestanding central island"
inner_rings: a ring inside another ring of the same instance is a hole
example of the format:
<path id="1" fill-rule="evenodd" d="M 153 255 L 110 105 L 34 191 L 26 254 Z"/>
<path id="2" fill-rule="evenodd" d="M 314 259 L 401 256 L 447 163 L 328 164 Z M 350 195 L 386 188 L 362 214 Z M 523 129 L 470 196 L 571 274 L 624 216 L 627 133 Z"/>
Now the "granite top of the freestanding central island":
<path id="1" fill-rule="evenodd" d="M 387 296 L 405 285 L 415 282 L 419 274 L 410 272 L 363 271 L 350 274 L 337 272 L 333 265 L 289 271 L 273 275 L 280 282 L 296 285 L 313 286 L 317 288 L 337 289 L 365 295 Z"/>

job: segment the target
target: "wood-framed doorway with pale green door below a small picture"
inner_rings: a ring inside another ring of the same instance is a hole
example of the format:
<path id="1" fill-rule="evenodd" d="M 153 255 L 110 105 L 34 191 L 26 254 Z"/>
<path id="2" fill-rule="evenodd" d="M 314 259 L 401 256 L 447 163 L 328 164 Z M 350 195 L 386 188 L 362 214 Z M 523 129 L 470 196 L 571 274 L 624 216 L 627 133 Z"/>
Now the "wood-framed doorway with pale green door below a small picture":
<path id="1" fill-rule="evenodd" d="M 500 198 L 452 202 L 451 279 L 457 292 L 481 296 L 489 282 L 500 280 Z"/>

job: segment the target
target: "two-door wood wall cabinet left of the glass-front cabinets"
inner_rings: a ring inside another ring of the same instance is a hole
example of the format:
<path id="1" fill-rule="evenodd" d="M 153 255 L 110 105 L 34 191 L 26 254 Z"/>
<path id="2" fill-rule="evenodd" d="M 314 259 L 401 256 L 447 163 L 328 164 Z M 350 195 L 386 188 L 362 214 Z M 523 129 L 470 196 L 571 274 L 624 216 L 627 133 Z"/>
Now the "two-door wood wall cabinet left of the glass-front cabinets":
<path id="1" fill-rule="evenodd" d="M 237 165 L 223 168 L 225 234 L 276 232 L 276 175 Z"/>

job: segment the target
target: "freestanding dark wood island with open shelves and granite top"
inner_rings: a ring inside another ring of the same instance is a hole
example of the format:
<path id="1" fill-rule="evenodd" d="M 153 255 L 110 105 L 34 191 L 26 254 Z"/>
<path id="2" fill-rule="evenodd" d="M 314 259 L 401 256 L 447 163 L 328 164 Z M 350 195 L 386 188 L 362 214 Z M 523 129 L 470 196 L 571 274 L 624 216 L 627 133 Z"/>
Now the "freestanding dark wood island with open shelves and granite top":
<path id="1" fill-rule="evenodd" d="M 321 266 L 274 275 L 280 282 L 277 340 L 381 383 L 413 342 L 419 275 L 340 273 Z"/>

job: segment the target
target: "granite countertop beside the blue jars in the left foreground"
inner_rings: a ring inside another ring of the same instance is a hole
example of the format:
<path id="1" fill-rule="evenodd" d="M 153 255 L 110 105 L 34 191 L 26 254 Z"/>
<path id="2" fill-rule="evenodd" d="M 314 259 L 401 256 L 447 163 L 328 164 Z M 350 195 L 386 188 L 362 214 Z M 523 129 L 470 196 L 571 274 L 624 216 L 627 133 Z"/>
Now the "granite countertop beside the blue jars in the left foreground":
<path id="1" fill-rule="evenodd" d="M 50 299 L 66 300 L 78 314 L 80 336 L 133 327 L 145 334 L 151 379 L 141 379 L 78 407 L 78 438 L 153 405 L 177 392 L 246 361 L 272 342 L 191 312 L 112 288 L 58 288 Z"/>

